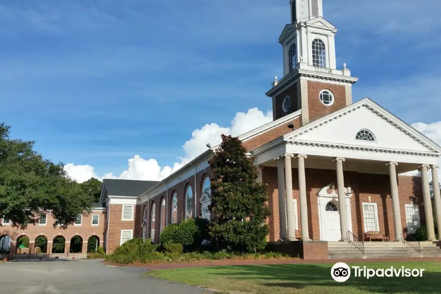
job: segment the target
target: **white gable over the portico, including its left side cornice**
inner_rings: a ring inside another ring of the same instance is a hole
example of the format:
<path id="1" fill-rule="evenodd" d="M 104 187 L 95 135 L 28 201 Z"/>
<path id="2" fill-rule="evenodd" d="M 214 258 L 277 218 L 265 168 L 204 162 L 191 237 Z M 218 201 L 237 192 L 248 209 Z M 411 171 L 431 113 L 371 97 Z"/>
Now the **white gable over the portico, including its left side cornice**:
<path id="1" fill-rule="evenodd" d="M 349 122 L 345 120 L 349 120 Z M 363 126 L 365 123 L 367 124 L 366 127 Z M 343 135 L 347 135 L 347 132 L 342 132 L 341 130 L 350 129 L 353 125 L 360 125 L 364 129 L 369 129 L 370 123 L 376 124 L 376 129 L 383 132 L 383 134 L 379 134 L 385 139 L 383 142 L 355 140 L 355 134 L 358 129 L 355 133 L 351 133 L 353 137 L 343 137 Z M 387 138 L 388 135 L 396 136 L 397 142 Z M 348 141 L 349 139 L 350 142 Z M 267 144 L 255 148 L 252 150 L 252 154 L 264 153 L 283 142 L 298 142 L 301 144 L 312 144 L 313 146 L 342 147 L 346 149 L 368 149 L 375 152 L 381 152 L 383 149 L 393 149 L 403 154 L 410 151 L 410 153 L 419 152 L 438 154 L 437 156 L 441 155 L 441 147 L 438 144 L 369 98 L 364 98 L 312 123 L 305 124 L 284 136 L 280 136 Z"/>

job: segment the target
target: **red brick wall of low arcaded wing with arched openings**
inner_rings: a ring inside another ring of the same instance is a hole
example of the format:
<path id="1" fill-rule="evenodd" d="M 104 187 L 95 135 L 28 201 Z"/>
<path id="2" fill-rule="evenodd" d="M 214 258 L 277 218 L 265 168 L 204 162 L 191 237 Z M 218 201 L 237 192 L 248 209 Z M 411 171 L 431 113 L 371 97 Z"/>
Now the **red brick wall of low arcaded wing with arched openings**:
<path id="1" fill-rule="evenodd" d="M 98 226 L 92 226 L 92 215 L 99 215 Z M 16 241 L 20 236 L 27 236 L 29 238 L 29 249 L 34 252 L 35 239 L 38 236 L 45 236 L 48 239 L 48 252 L 52 250 L 52 241 L 56 236 L 63 236 L 65 238 L 65 253 L 68 252 L 70 242 L 73 236 L 80 236 L 83 239 L 82 252 L 86 253 L 87 241 L 91 236 L 97 236 L 99 238 L 99 245 L 104 246 L 105 241 L 105 229 L 106 212 L 93 211 L 90 215 L 83 215 L 80 226 L 69 225 L 66 229 L 60 227 L 53 227 L 54 218 L 49 214 L 47 215 L 46 225 L 28 225 L 25 229 L 11 227 L 4 225 L 0 227 L 0 236 L 8 235 L 11 237 L 11 252 L 16 250 Z"/>

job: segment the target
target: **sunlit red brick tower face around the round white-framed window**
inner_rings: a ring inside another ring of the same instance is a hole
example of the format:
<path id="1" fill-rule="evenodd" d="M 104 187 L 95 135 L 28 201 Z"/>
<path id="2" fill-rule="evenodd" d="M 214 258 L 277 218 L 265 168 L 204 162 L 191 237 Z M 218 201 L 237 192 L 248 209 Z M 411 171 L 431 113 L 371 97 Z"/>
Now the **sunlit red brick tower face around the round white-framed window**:
<path id="1" fill-rule="evenodd" d="M 334 104 L 326 106 L 321 103 L 321 90 L 330 90 L 334 94 Z M 346 106 L 346 90 L 342 85 L 308 81 L 309 121 L 313 122 Z"/>

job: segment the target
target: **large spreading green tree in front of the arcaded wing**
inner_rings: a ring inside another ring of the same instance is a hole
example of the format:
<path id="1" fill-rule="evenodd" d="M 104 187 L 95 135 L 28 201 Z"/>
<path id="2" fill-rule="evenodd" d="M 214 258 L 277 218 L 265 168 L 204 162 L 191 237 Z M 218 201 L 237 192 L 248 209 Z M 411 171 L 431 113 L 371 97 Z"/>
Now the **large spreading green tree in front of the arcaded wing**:
<path id="1" fill-rule="evenodd" d="M 46 212 L 56 219 L 54 226 L 66 227 L 90 212 L 93 196 L 67 176 L 63 164 L 45 160 L 34 141 L 11 139 L 9 130 L 0 123 L 0 217 L 26 227 Z"/>

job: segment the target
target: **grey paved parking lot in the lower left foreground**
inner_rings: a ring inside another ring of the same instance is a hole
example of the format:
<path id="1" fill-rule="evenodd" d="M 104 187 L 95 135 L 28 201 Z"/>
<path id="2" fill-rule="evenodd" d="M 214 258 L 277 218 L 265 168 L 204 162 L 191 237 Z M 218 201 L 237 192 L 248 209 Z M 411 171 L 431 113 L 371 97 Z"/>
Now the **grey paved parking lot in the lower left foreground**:
<path id="1" fill-rule="evenodd" d="M 110 267 L 97 260 L 0 263 L 0 294 L 201 294 L 211 293 L 144 275 L 146 270 Z"/>

